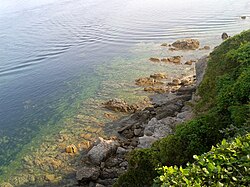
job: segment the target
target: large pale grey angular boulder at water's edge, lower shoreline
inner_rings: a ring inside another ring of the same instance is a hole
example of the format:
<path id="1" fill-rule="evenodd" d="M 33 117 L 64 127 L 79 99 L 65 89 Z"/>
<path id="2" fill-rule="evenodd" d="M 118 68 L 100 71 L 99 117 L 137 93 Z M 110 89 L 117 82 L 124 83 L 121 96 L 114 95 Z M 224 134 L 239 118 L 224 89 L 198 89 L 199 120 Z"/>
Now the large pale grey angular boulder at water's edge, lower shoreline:
<path id="1" fill-rule="evenodd" d="M 99 165 L 106 160 L 109 155 L 116 152 L 118 142 L 115 140 L 104 140 L 99 138 L 100 143 L 92 147 L 87 156 L 93 164 Z"/>

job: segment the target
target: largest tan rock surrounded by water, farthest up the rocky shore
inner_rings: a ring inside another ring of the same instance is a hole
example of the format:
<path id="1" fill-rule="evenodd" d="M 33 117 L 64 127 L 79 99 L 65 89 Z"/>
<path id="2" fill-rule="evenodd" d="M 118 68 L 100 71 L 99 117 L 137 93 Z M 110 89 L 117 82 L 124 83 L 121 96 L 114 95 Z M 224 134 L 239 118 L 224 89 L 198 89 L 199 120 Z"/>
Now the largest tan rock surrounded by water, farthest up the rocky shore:
<path id="1" fill-rule="evenodd" d="M 195 50 L 200 46 L 200 42 L 197 39 L 183 39 L 177 40 L 172 44 L 178 50 Z"/>

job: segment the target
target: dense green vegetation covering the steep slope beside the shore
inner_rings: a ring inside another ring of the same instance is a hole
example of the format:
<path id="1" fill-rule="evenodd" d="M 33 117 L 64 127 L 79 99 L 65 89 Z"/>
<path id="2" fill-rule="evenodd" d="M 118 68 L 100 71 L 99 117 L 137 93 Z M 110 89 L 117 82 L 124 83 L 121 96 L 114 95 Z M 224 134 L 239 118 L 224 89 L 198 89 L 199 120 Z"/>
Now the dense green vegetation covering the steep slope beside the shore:
<path id="1" fill-rule="evenodd" d="M 219 179 L 220 175 L 214 177 L 214 173 L 211 174 L 209 170 L 214 169 L 218 172 L 218 168 L 214 167 L 219 162 L 224 164 L 223 169 L 227 169 L 227 163 L 233 162 L 232 155 L 222 151 L 224 148 L 231 149 L 236 157 L 240 156 L 239 158 L 242 154 L 245 155 L 240 150 L 246 148 L 249 151 L 249 145 L 247 145 L 249 135 L 245 135 L 250 129 L 250 30 L 226 40 L 210 54 L 206 74 L 198 88 L 198 93 L 202 98 L 195 106 L 196 117 L 177 126 L 174 135 L 157 141 L 152 148 L 133 151 L 129 155 L 129 170 L 118 179 L 114 186 L 150 186 L 153 184 L 153 179 L 158 176 L 155 168 L 162 166 L 168 167 L 163 167 L 162 176 L 155 180 L 155 184 L 163 182 L 163 186 L 169 186 L 170 179 L 185 183 L 187 186 L 193 186 L 196 183 L 206 185 L 206 182 L 219 185 L 227 181 L 227 179 Z M 223 139 L 230 140 L 236 136 L 243 137 L 236 139 L 231 143 L 232 145 L 230 143 L 224 145 L 225 141 L 223 141 L 224 143 L 217 149 L 212 148 Z M 245 143 L 242 147 L 234 147 L 235 142 L 237 144 L 238 141 Z M 193 165 L 185 169 L 177 167 L 193 162 L 193 155 L 201 155 L 211 148 L 209 153 L 197 157 Z M 228 157 L 229 160 L 216 160 L 216 156 L 220 155 Z M 249 152 L 245 156 L 249 157 Z M 207 171 L 196 164 L 205 158 L 208 161 L 203 164 Z M 247 159 L 231 164 L 239 164 L 240 167 L 241 163 L 249 162 L 249 158 Z M 174 165 L 176 166 L 170 167 Z M 249 163 L 245 167 L 247 172 L 242 172 L 243 177 L 245 174 L 249 175 Z M 182 172 L 186 171 L 192 171 L 186 177 L 187 180 L 182 178 Z M 232 178 L 235 173 L 227 171 L 229 173 L 224 175 L 223 170 L 221 175 L 231 177 L 230 182 L 235 182 L 237 185 L 237 180 L 240 179 Z M 171 175 L 171 172 L 175 174 Z M 192 175 L 196 172 L 197 178 L 193 178 Z M 202 172 L 205 172 L 204 176 Z M 250 182 L 249 176 L 244 180 Z M 230 182 L 227 182 L 227 185 Z"/>

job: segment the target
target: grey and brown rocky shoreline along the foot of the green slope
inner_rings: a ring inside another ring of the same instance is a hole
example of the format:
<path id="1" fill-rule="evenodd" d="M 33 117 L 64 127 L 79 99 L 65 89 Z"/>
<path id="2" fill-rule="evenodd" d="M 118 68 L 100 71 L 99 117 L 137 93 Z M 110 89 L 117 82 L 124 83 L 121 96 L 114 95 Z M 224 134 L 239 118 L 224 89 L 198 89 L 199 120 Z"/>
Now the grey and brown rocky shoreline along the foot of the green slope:
<path id="1" fill-rule="evenodd" d="M 186 45 L 184 47 L 187 48 Z M 202 57 L 195 63 L 194 75 L 168 83 L 164 82 L 167 76 L 163 73 L 137 79 L 135 84 L 143 86 L 144 91 L 155 93 L 150 98 L 152 106 L 143 110 L 121 99 L 104 103 L 108 109 L 132 114 L 109 124 L 109 128 L 112 126 L 117 129 L 116 136 L 109 140 L 99 138 L 89 148 L 82 158 L 82 166 L 76 172 L 78 185 L 112 186 L 119 175 L 128 169 L 127 153 L 133 149 L 150 147 L 156 140 L 174 133 L 178 124 L 190 120 L 193 116 L 192 105 L 198 97 L 196 88 L 204 75 L 206 62 L 207 57 Z M 151 89 L 145 89 L 148 87 Z"/>

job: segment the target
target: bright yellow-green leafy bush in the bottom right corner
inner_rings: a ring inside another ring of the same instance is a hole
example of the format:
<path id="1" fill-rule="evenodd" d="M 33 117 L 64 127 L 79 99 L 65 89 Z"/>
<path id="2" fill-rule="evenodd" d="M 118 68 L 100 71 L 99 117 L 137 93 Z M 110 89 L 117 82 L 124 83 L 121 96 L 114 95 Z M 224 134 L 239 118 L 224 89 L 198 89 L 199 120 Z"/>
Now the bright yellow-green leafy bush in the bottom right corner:
<path id="1" fill-rule="evenodd" d="M 248 186 L 250 184 L 250 134 L 217 147 L 186 168 L 164 166 L 154 180 L 157 186 Z"/>

